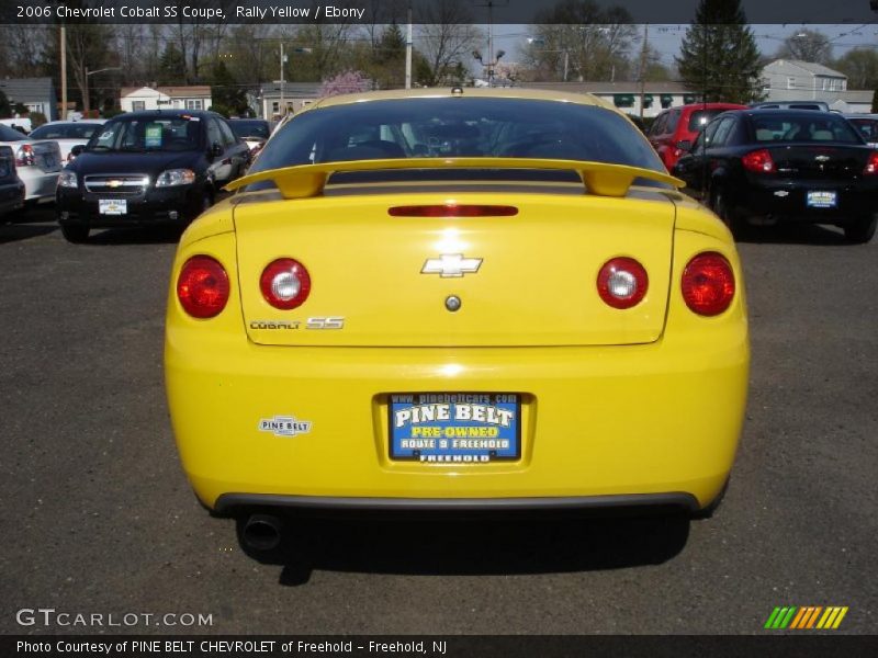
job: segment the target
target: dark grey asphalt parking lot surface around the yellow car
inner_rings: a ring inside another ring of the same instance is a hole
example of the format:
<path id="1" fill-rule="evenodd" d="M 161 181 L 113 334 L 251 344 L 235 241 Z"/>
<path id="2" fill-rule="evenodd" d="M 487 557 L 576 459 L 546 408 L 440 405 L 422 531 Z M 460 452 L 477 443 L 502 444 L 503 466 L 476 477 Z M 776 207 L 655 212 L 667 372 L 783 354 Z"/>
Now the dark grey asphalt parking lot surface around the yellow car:
<path id="1" fill-rule="evenodd" d="M 848 606 L 840 632 L 878 631 L 878 239 L 740 245 L 751 396 L 713 519 L 315 520 L 285 564 L 261 564 L 177 458 L 176 236 L 72 246 L 49 208 L 31 218 L 0 226 L 3 634 L 753 634 L 778 605 Z M 177 616 L 21 625 L 37 608 Z"/>

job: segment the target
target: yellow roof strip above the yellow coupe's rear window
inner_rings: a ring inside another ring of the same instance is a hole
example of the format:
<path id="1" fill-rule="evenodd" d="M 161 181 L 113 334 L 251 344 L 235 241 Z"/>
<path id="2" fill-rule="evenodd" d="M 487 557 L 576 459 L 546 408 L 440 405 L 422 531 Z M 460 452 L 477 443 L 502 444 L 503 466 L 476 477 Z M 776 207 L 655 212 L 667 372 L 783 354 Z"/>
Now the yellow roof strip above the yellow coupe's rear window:
<path id="1" fill-rule="evenodd" d="M 567 91 L 551 91 L 542 89 L 525 89 L 521 87 L 491 88 L 491 87 L 430 87 L 424 89 L 393 89 L 384 91 L 367 91 L 362 93 L 346 93 L 320 99 L 302 112 L 309 112 L 318 107 L 331 107 L 336 105 L 349 105 L 352 103 L 364 103 L 369 101 L 391 101 L 406 99 L 442 99 L 442 98 L 464 98 L 464 99 L 520 99 L 537 101 L 559 101 L 567 103 L 579 103 L 583 105 L 596 105 L 614 111 L 618 110 L 607 101 L 598 99 L 592 94 L 574 93 Z"/>

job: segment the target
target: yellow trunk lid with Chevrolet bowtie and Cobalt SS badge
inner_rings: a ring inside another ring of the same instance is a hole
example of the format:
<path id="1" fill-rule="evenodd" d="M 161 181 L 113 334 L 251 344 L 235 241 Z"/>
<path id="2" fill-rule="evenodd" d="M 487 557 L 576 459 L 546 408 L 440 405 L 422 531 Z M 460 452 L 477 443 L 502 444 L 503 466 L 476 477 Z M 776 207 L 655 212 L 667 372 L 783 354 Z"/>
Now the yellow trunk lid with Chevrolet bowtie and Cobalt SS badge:
<path id="1" fill-rule="evenodd" d="M 361 190 L 235 206 L 238 285 L 248 337 L 258 344 L 334 347 L 605 345 L 662 334 L 675 206 L 640 189 L 622 198 L 527 193 L 515 186 L 453 192 Z M 365 193 L 364 193 L 365 192 Z M 271 193 L 268 193 L 269 195 Z M 515 206 L 514 216 L 391 216 L 390 208 Z M 599 297 L 599 269 L 614 257 L 643 264 L 649 291 L 618 310 Z M 279 310 L 259 280 L 274 259 L 311 275 L 299 308 Z M 476 265 L 476 261 L 480 261 Z M 444 275 L 443 275 L 444 274 Z M 450 311 L 449 296 L 461 306 Z"/>

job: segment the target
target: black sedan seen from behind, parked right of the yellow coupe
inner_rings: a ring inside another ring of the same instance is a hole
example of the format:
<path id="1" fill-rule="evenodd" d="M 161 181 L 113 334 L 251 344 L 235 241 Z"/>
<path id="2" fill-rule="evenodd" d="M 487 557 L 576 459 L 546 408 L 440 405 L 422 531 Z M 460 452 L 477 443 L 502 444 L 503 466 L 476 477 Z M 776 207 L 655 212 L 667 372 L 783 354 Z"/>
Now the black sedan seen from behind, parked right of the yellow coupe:
<path id="1" fill-rule="evenodd" d="M 878 151 L 840 114 L 745 110 L 714 118 L 674 173 L 734 230 L 834 224 L 868 242 L 878 212 Z"/>

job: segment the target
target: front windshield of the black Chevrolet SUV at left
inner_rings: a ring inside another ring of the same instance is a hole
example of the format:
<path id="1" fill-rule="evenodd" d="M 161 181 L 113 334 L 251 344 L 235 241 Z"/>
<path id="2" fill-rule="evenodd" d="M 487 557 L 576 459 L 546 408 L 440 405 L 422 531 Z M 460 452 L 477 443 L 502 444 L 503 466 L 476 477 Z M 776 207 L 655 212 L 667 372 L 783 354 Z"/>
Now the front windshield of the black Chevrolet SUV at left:
<path id="1" fill-rule="evenodd" d="M 116 120 L 101 126 L 89 151 L 184 151 L 200 144 L 196 116 L 150 116 Z"/>

